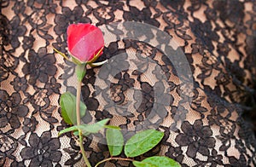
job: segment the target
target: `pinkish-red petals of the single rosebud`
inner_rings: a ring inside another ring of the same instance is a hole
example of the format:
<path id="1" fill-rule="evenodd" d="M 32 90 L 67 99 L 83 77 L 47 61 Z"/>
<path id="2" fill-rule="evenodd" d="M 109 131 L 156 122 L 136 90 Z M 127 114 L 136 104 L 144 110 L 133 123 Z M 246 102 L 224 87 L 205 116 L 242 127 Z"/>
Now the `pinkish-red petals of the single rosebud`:
<path id="1" fill-rule="evenodd" d="M 104 39 L 101 29 L 90 24 L 72 24 L 67 27 L 67 47 L 71 55 L 81 62 L 102 55 Z"/>

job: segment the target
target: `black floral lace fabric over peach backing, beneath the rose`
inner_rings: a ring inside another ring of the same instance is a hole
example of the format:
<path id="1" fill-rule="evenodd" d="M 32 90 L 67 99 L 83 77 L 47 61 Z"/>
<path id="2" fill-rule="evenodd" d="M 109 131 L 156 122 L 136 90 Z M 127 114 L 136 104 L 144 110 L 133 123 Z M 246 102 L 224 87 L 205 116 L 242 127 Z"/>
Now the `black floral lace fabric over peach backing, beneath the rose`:
<path id="1" fill-rule="evenodd" d="M 160 145 L 137 159 L 165 155 L 182 166 L 254 166 L 253 126 L 243 116 L 255 103 L 255 18 L 253 0 L 2 0 L 0 166 L 84 165 L 73 135 L 57 136 L 68 126 L 60 95 L 76 89 L 72 63 L 52 49 L 67 53 L 67 26 L 79 22 L 112 25 L 107 29 L 115 39 L 100 57 L 108 64 L 89 69 L 83 80 L 84 123 L 111 118 L 125 139 L 147 128 L 164 131 Z M 193 82 L 185 83 L 157 47 L 166 37 L 113 24 L 125 21 L 168 33 Z M 124 32 L 143 42 L 120 38 Z M 104 140 L 101 133 L 84 139 L 92 165 L 109 156 Z"/>

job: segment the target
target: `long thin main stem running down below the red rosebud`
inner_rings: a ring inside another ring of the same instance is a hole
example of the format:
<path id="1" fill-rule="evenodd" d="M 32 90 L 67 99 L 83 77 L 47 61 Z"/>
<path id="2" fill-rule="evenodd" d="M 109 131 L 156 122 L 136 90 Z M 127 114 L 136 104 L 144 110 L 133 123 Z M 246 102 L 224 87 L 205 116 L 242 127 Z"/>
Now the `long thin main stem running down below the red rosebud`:
<path id="1" fill-rule="evenodd" d="M 81 86 L 82 86 L 82 81 L 81 81 L 81 79 L 78 78 L 77 103 L 76 103 L 77 125 L 81 124 L 81 116 L 80 116 Z M 83 135 L 82 135 L 82 131 L 81 130 L 79 130 L 79 147 L 80 147 L 81 153 L 83 155 L 84 162 L 85 162 L 86 166 L 91 167 L 90 162 L 89 162 L 88 158 L 86 157 L 86 153 L 84 151 Z"/>

